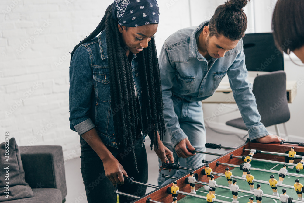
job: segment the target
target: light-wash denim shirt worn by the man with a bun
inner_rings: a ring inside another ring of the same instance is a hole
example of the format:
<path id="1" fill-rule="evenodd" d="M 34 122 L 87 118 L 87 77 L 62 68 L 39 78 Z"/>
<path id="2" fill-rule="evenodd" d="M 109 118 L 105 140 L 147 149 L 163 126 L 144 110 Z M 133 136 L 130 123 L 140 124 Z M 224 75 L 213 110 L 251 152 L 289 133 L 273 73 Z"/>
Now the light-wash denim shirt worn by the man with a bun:
<path id="1" fill-rule="evenodd" d="M 184 98 L 189 102 L 205 100 L 212 96 L 225 75 L 228 75 L 233 97 L 249 129 L 250 140 L 269 135 L 261 123 L 252 86 L 247 80 L 243 40 L 228 51 L 223 58 L 212 58 L 210 67 L 199 53 L 196 33 L 209 21 L 198 27 L 190 27 L 172 34 L 164 43 L 159 56 L 164 121 L 175 146 L 188 138 L 180 128 L 174 112 L 171 96 Z"/>

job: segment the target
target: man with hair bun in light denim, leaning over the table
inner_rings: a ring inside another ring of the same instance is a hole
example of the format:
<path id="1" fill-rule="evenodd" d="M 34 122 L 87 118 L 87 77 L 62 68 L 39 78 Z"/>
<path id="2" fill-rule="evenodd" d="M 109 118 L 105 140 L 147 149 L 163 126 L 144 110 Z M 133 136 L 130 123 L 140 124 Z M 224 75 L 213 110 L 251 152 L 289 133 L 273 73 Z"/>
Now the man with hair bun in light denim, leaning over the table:
<path id="1" fill-rule="evenodd" d="M 243 10 L 247 2 L 227 0 L 216 8 L 210 21 L 177 31 L 161 49 L 159 64 L 166 124 L 163 143 L 173 151 L 175 162 L 181 166 L 197 168 L 205 159 L 203 154 L 193 156 L 186 147 L 206 150 L 200 101 L 215 93 L 225 75 L 228 75 L 250 140 L 268 143 L 282 139 L 270 135 L 261 123 L 251 84 L 247 81 L 242 41 L 247 29 Z M 209 121 L 213 119 L 213 116 L 209 117 Z M 185 173 L 185 170 L 179 170 L 173 175 L 179 177 Z M 166 181 L 160 174 L 158 184 L 166 184 Z"/>

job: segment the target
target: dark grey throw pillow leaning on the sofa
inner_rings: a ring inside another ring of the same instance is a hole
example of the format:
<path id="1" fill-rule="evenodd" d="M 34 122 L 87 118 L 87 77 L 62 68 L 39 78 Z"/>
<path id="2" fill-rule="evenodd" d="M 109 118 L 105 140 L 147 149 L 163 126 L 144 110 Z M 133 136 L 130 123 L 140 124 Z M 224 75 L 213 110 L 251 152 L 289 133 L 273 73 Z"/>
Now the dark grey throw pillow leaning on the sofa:
<path id="1" fill-rule="evenodd" d="M 25 182 L 19 148 L 15 138 L 0 144 L 0 202 L 33 197 L 33 191 Z M 5 156 L 8 155 L 8 156 Z"/>

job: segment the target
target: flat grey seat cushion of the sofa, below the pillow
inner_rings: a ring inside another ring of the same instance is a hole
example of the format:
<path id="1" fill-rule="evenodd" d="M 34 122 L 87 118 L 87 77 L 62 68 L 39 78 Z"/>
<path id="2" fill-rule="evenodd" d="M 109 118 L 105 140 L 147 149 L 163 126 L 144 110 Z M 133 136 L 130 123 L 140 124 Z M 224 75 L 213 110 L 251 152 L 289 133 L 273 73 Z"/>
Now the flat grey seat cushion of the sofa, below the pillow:
<path id="1" fill-rule="evenodd" d="M 6 203 L 62 203 L 61 192 L 55 188 L 33 189 L 34 197 L 6 201 Z"/>

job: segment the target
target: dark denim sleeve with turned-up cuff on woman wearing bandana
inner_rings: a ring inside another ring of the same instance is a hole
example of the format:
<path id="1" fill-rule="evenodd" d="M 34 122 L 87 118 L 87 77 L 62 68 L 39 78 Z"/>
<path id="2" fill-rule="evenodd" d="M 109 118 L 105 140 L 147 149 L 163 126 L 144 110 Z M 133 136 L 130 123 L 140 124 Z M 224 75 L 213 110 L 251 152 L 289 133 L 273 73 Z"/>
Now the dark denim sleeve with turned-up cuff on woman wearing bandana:
<path id="1" fill-rule="evenodd" d="M 74 52 L 70 65 L 69 91 L 69 120 L 79 135 L 95 128 L 89 116 L 93 87 L 90 55 L 87 48 L 80 46 Z"/>

